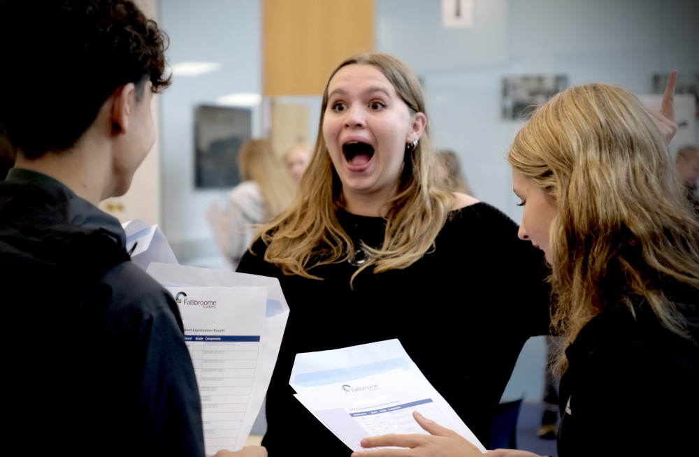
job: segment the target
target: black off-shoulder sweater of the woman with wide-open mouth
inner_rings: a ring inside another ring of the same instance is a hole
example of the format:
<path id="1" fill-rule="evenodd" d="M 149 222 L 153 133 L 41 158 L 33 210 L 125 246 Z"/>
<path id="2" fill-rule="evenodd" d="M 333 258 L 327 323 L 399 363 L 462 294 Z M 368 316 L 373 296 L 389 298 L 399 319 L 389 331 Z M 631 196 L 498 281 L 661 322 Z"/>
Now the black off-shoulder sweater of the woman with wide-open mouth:
<path id="1" fill-rule="evenodd" d="M 340 211 L 353 240 L 378 246 L 384 220 Z M 487 447 L 491 420 L 524 342 L 547 333 L 549 288 L 542 252 L 517 226 L 477 203 L 452 212 L 435 249 L 403 270 L 373 274 L 349 262 L 312 268 L 322 280 L 285 276 L 264 262 L 263 242 L 238 271 L 277 277 L 289 320 L 267 395 L 272 457 L 304 449 L 343 456 L 349 449 L 293 397 L 289 375 L 299 352 L 398 338 L 435 389 Z"/>

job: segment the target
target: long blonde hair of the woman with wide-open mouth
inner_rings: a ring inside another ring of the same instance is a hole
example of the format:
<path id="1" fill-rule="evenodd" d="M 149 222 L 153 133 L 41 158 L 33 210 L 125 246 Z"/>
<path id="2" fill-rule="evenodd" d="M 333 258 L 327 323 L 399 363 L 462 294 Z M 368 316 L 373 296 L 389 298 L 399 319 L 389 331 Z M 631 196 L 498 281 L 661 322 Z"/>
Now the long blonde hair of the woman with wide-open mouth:
<path id="1" fill-rule="evenodd" d="M 414 73 L 401 61 L 386 54 L 368 53 L 345 59 L 328 78 L 347 65 L 373 65 L 395 87 L 412 113 L 425 113 L 424 96 Z M 264 225 L 256 238 L 267 245 L 264 259 L 280 266 L 285 275 L 315 278 L 316 266 L 352 259 L 356 247 L 338 222 L 343 208 L 343 185 L 333 167 L 323 137 L 323 121 L 328 105 L 328 85 L 323 93 L 318 136 L 310 163 L 291 206 L 278 218 Z M 426 115 L 426 113 L 425 113 Z M 406 147 L 403 171 L 396 196 L 386 202 L 386 229 L 381 247 L 361 245 L 370 260 L 361 270 L 373 267 L 375 273 L 406 268 L 428 252 L 442 229 L 454 196 L 435 187 L 435 157 L 426 126 L 417 147 Z M 350 282 L 352 282 L 350 280 Z"/>

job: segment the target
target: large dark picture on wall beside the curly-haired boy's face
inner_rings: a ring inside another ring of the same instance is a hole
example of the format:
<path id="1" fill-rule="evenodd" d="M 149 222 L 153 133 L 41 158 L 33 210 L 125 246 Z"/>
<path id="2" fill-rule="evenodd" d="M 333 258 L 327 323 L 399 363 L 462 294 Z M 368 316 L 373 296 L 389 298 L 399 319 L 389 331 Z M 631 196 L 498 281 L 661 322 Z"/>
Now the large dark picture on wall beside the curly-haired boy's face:
<path id="1" fill-rule="evenodd" d="M 198 106 L 194 110 L 194 186 L 240 183 L 238 150 L 252 138 L 252 113 L 245 108 Z"/>

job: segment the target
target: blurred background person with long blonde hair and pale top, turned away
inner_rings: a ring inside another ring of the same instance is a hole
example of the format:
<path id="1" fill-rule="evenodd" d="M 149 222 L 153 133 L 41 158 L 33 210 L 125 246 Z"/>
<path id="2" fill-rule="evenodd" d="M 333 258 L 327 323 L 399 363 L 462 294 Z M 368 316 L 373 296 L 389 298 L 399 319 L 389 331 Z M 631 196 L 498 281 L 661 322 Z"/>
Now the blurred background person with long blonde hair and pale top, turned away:
<path id="1" fill-rule="evenodd" d="M 224 252 L 233 266 L 250 246 L 257 226 L 287 208 L 293 184 L 268 140 L 249 140 L 238 151 L 240 182 L 228 194 L 223 232 Z"/>

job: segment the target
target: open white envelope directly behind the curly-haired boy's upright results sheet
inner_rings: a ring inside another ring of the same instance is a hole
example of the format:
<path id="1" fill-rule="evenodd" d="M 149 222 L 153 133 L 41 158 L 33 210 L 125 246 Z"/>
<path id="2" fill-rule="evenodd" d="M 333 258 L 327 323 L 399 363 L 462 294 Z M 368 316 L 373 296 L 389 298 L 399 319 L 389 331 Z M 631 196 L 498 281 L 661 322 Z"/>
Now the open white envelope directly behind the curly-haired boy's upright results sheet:
<path id="1" fill-rule="evenodd" d="M 262 331 L 259 340 L 257 361 L 254 368 L 254 383 L 248 398 L 249 407 L 245 409 L 243 420 L 240 425 L 238 442 L 235 446 L 226 445 L 220 448 L 210 447 L 210 438 L 208 435 L 210 424 L 204 424 L 207 454 L 215 454 L 215 452 L 219 449 L 230 449 L 233 451 L 242 449 L 247 435 L 250 434 L 252 424 L 257 418 L 257 414 L 259 413 L 259 409 L 264 400 L 267 387 L 269 386 L 272 371 L 274 370 L 277 355 L 279 354 L 279 348 L 282 343 L 284 327 L 287 324 L 287 317 L 289 315 L 289 306 L 287 305 L 287 300 L 284 299 L 284 294 L 282 293 L 282 288 L 279 285 L 279 281 L 272 277 L 246 275 L 244 273 L 234 273 L 231 271 L 210 270 L 208 268 L 196 268 L 192 266 L 172 265 L 157 262 L 150 263 L 146 273 L 154 277 L 154 279 L 160 282 L 160 284 L 166 287 L 166 289 L 171 291 L 176 289 L 177 291 L 173 292 L 175 297 L 180 291 L 187 293 L 187 296 L 189 297 L 189 288 L 194 288 L 192 290 L 196 290 L 196 293 L 200 293 L 199 288 L 201 288 L 202 291 L 210 289 L 210 293 L 219 293 L 221 296 L 228 297 L 226 300 L 233 300 L 231 302 L 231 307 L 233 308 L 247 307 L 244 302 L 238 300 L 238 295 L 240 295 L 240 298 L 242 299 L 245 294 L 253 293 L 249 292 L 252 289 L 264 289 L 264 330 Z M 224 289 L 229 289 L 229 291 L 233 293 L 233 296 L 229 296 L 229 292 L 224 291 Z M 182 303 L 184 303 L 184 297 L 180 298 L 182 298 Z M 213 300 L 213 298 L 208 300 L 197 298 L 196 300 L 210 301 Z M 180 310 L 182 312 L 182 319 L 185 321 L 185 314 L 187 314 L 187 310 L 182 310 L 182 303 L 180 303 Z M 240 312 L 243 311 L 241 310 Z M 236 314 L 236 316 L 238 316 L 238 314 Z M 226 317 L 225 319 L 237 320 L 240 318 Z M 257 328 L 258 324 L 255 322 L 256 321 L 249 321 L 249 325 L 252 328 Z M 217 322 L 216 324 L 223 325 L 223 322 Z M 238 328 L 238 324 L 240 324 L 240 322 L 237 324 L 232 323 L 231 325 L 236 327 L 231 328 Z M 185 327 L 189 328 L 187 321 L 185 321 Z M 243 331 L 244 330 L 240 330 L 238 332 L 242 333 Z M 185 331 L 185 335 L 186 334 L 187 331 Z M 204 402 L 205 398 L 209 395 L 209 392 L 207 390 L 202 390 L 201 387 L 202 385 L 200 384 L 200 394 Z"/>

